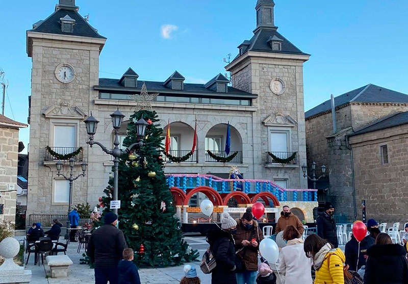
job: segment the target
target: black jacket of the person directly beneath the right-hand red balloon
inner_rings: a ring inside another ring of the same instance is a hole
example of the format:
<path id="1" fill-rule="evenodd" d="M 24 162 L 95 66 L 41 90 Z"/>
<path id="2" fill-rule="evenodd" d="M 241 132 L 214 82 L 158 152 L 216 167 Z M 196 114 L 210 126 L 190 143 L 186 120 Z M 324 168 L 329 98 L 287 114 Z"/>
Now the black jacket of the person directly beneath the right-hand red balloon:
<path id="1" fill-rule="evenodd" d="M 346 262 L 349 268 L 348 270 L 358 271 L 363 265 L 366 265 L 367 249 L 374 245 L 374 239 L 370 235 L 366 236 L 363 241 L 360 242 L 360 256 L 359 256 L 359 267 L 357 265 L 357 256 L 359 255 L 359 242 L 351 236 L 351 240 L 347 242 L 344 254 L 346 255 Z"/>

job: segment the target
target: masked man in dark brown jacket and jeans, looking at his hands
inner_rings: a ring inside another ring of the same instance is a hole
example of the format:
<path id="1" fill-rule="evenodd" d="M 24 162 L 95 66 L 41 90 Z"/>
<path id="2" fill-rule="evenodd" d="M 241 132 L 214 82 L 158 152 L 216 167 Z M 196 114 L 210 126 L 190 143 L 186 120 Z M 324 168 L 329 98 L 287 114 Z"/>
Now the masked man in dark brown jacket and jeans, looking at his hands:
<path id="1" fill-rule="evenodd" d="M 237 259 L 241 261 L 241 271 L 237 271 L 238 284 L 255 284 L 258 273 L 259 243 L 264 239 L 258 222 L 247 210 L 237 219 L 237 233 L 234 236 Z"/>

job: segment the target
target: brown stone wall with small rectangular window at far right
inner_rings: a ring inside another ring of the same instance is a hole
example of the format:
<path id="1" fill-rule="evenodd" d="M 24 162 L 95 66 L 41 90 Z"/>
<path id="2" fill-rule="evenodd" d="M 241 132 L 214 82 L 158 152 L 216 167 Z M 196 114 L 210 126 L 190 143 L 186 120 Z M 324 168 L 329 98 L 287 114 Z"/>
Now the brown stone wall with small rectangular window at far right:
<path id="1" fill-rule="evenodd" d="M 408 124 L 350 137 L 353 149 L 356 200 L 366 200 L 367 219 L 407 221 Z M 388 164 L 382 164 L 380 146 L 388 147 Z M 358 211 L 361 218 L 361 210 Z"/>

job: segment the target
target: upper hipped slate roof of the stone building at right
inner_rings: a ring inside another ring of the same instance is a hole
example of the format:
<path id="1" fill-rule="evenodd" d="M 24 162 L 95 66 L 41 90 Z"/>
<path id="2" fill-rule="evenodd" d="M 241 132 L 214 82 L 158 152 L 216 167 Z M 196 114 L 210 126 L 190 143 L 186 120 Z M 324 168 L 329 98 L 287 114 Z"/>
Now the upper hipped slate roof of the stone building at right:
<path id="1" fill-rule="evenodd" d="M 347 104 L 350 101 L 408 103 L 408 95 L 373 84 L 368 84 L 335 97 L 335 106 L 339 107 Z M 304 117 L 308 118 L 330 109 L 331 102 L 328 99 L 322 104 L 305 112 Z"/>

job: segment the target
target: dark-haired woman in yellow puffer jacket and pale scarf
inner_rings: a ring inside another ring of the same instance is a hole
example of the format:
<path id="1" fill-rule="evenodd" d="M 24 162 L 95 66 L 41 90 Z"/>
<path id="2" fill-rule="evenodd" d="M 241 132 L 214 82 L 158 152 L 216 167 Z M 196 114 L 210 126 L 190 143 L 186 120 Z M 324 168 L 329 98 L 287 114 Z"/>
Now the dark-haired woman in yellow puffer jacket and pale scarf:
<path id="1" fill-rule="evenodd" d="M 316 270 L 314 284 L 344 284 L 343 266 L 346 256 L 339 248 L 313 234 L 304 240 L 303 250 L 313 259 Z"/>

